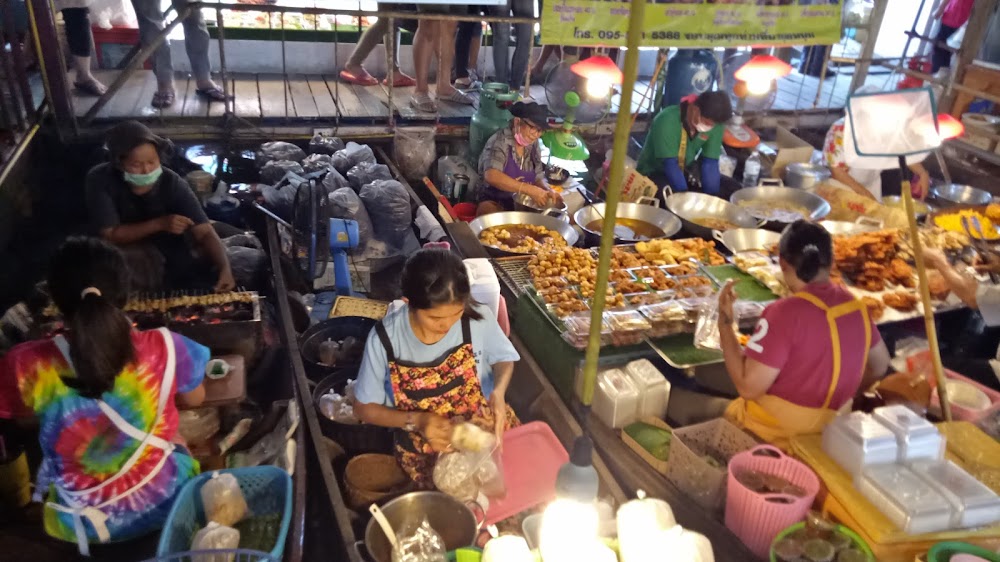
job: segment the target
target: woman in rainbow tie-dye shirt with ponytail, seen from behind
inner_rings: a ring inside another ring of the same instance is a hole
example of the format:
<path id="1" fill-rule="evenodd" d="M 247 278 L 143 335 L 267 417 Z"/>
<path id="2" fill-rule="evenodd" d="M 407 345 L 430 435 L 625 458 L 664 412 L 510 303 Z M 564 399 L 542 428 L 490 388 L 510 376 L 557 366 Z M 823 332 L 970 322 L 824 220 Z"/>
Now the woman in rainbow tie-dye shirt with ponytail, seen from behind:
<path id="1" fill-rule="evenodd" d="M 49 274 L 65 337 L 12 349 L 0 366 L 0 417 L 37 416 L 43 460 L 35 499 L 45 529 L 88 543 L 163 526 L 198 473 L 180 444 L 177 405 L 197 406 L 209 351 L 164 330 L 135 332 L 122 312 L 128 271 L 96 239 L 70 239 Z"/>

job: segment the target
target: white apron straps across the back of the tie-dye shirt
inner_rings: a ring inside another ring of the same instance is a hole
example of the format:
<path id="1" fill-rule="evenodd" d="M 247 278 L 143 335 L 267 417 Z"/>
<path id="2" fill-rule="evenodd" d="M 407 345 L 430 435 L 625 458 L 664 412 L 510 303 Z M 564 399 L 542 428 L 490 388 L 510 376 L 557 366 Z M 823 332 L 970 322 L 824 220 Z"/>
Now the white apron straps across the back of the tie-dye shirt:
<path id="1" fill-rule="evenodd" d="M 160 418 L 162 418 L 168 400 L 170 400 L 171 396 L 170 391 L 173 389 L 173 384 L 176 378 L 176 369 L 177 369 L 177 353 L 174 347 L 173 336 L 171 335 L 170 331 L 167 330 L 166 328 L 160 328 L 157 331 L 159 331 L 160 334 L 163 336 L 164 343 L 166 344 L 167 360 L 166 360 L 166 365 L 164 366 L 163 378 L 161 379 L 161 384 L 160 384 L 160 394 L 158 397 L 159 400 L 157 402 L 156 417 L 153 419 L 150 431 L 152 431 L 156 427 L 157 422 L 160 420 Z M 62 353 L 66 362 L 70 365 L 70 367 L 72 367 L 73 362 L 70 359 L 69 342 L 67 342 L 66 338 L 64 338 L 61 335 L 56 336 L 54 338 L 54 342 L 56 344 L 56 347 L 59 348 L 59 351 Z M 90 556 L 90 546 L 87 541 L 87 533 L 83 525 L 83 519 L 87 519 L 90 522 L 90 524 L 94 527 L 94 531 L 97 534 L 98 540 L 100 540 L 101 542 L 107 542 L 111 540 L 111 534 L 108 531 L 106 524 L 108 517 L 100 508 L 109 505 L 111 503 L 114 503 L 116 501 L 119 501 L 122 498 L 131 495 L 135 490 L 142 488 L 143 486 L 148 484 L 153 478 L 156 477 L 157 474 L 159 474 L 160 470 L 163 469 L 163 465 L 166 464 L 167 459 L 170 458 L 170 454 L 173 452 L 175 447 L 173 443 L 170 443 L 169 441 L 166 441 L 161 437 L 153 435 L 150 432 L 138 429 L 134 425 L 128 423 L 128 421 L 126 421 L 125 418 L 123 418 L 117 411 L 114 410 L 114 408 L 109 406 L 103 400 L 98 400 L 97 403 L 98 407 L 101 410 L 101 413 L 107 416 L 115 427 L 117 427 L 120 431 L 122 431 L 129 437 L 139 441 L 140 443 L 139 446 L 136 447 L 132 455 L 129 457 L 128 461 L 126 461 L 126 463 L 122 466 L 122 468 L 114 476 L 101 482 L 97 486 L 88 488 L 86 490 L 74 491 L 74 490 L 63 489 L 62 487 L 57 485 L 56 492 L 58 493 L 60 498 L 68 504 L 69 507 L 64 507 L 62 505 L 52 502 L 48 502 L 47 504 L 49 507 L 55 509 L 56 511 L 62 513 L 69 513 L 73 516 L 73 529 L 74 532 L 76 533 L 77 547 L 80 550 L 80 554 L 84 556 Z M 132 486 L 128 490 L 114 496 L 113 498 L 105 502 L 102 502 L 99 505 L 96 506 L 80 505 L 80 502 L 77 501 L 77 498 L 93 494 L 94 492 L 103 489 L 108 484 L 118 480 L 118 478 L 121 478 L 125 474 L 128 474 L 128 472 L 132 470 L 135 464 L 139 461 L 139 458 L 141 458 L 142 454 L 146 451 L 147 447 L 155 447 L 157 449 L 160 449 L 163 451 L 164 454 L 160 457 L 160 461 L 157 463 L 157 465 L 152 470 L 150 470 L 142 478 L 142 480 L 140 480 L 135 486 Z"/>

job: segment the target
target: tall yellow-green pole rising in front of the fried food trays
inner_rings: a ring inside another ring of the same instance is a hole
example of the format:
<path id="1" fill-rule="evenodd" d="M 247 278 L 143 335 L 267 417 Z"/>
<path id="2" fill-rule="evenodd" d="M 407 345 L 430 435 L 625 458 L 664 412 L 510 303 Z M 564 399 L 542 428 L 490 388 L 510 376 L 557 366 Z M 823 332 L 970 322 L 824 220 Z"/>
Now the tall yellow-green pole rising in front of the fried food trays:
<path id="1" fill-rule="evenodd" d="M 621 196 L 622 179 L 625 175 L 625 152 L 628 150 L 629 135 L 632 134 L 630 121 L 632 112 L 632 90 L 638 75 L 639 40 L 642 37 L 642 20 L 646 11 L 646 0 L 631 0 L 629 3 L 628 37 L 625 45 L 625 77 L 622 81 L 621 103 L 618 105 L 618 119 L 615 123 L 615 142 L 608 167 L 607 196 L 604 200 L 604 224 L 601 226 L 601 253 L 597 258 L 597 282 L 594 286 L 594 302 L 590 314 L 590 340 L 583 365 L 583 403 L 587 406 L 594 399 L 594 384 L 597 382 L 597 360 L 601 353 L 601 320 L 604 316 L 604 297 L 608 290 L 608 273 L 611 269 L 611 247 L 615 242 L 615 218 L 618 216 L 618 199 Z"/>

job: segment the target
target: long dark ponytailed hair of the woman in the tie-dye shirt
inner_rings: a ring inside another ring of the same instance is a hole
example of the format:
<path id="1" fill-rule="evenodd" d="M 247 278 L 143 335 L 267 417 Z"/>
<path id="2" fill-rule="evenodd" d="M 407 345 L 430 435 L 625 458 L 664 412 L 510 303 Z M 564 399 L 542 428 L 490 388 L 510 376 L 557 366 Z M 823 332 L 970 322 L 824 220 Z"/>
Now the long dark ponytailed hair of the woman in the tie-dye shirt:
<path id="1" fill-rule="evenodd" d="M 69 328 L 76 374 L 63 382 L 81 396 L 100 398 L 135 360 L 132 323 L 122 311 L 129 293 L 125 258 L 96 238 L 70 238 L 56 252 L 48 283 Z"/>

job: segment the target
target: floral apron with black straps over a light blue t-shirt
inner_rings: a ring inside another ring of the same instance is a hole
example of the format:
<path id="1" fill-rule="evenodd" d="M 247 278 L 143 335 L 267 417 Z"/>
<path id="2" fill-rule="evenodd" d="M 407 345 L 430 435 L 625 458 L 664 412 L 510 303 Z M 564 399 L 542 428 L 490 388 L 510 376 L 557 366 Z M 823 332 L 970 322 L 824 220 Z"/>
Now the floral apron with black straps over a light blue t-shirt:
<path id="1" fill-rule="evenodd" d="M 375 325 L 389 360 L 389 379 L 396 409 L 402 412 L 430 412 L 455 422 L 469 421 L 493 432 L 493 410 L 483 396 L 472 349 L 469 319 L 462 317 L 462 344 L 437 361 L 410 363 L 398 359 L 385 326 Z M 514 411 L 507 408 L 507 427 L 519 425 Z M 434 487 L 431 479 L 437 453 L 417 432 L 396 432 L 396 459 L 418 487 Z"/>

